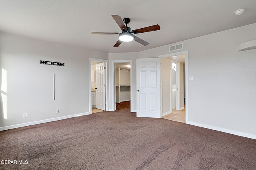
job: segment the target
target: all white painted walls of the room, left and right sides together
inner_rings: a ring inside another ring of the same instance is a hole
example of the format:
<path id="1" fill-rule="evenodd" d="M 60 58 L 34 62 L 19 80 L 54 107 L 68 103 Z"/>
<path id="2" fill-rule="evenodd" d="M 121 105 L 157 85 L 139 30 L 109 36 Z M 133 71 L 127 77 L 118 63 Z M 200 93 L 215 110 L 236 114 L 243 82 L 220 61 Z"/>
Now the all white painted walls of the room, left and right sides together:
<path id="1" fill-rule="evenodd" d="M 255 30 L 256 23 L 182 41 L 189 54 L 186 76 L 194 76 L 186 96 L 188 123 L 256 139 L 256 50 L 238 52 L 239 44 L 256 39 Z M 168 46 L 107 55 L 1 33 L 0 67 L 1 77 L 2 68 L 7 71 L 8 117 L 0 117 L 0 127 L 88 112 L 88 57 L 132 59 L 136 68 L 137 58 L 169 54 Z M 65 66 L 43 65 L 39 60 L 63 62 Z M 136 109 L 136 69 L 132 85 Z M 111 95 L 109 101 L 114 101 Z M 110 104 L 110 109 L 113 106 Z M 0 107 L 3 115 L 4 107 Z M 55 109 L 60 109 L 60 115 Z M 23 113 L 28 113 L 28 118 L 23 119 Z"/>

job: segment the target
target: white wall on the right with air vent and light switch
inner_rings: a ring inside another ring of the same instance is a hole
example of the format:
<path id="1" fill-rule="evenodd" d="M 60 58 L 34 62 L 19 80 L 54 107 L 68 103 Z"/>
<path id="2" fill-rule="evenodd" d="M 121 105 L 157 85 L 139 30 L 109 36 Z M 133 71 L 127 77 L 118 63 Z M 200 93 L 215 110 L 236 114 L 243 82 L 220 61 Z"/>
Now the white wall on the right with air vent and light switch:
<path id="1" fill-rule="evenodd" d="M 186 76 L 194 76 L 186 96 L 189 124 L 256 139 L 256 50 L 238 52 L 239 44 L 256 39 L 255 30 L 256 23 L 182 41 L 189 54 Z M 138 52 L 137 58 L 169 54 L 170 45 Z M 109 56 L 132 59 L 129 53 Z"/>

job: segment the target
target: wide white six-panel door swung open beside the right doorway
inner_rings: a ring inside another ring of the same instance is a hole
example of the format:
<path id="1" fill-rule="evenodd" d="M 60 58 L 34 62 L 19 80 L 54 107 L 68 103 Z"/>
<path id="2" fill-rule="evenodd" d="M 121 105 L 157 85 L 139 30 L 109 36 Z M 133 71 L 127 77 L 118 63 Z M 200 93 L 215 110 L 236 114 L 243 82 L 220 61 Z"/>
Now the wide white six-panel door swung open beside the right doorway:
<path id="1" fill-rule="evenodd" d="M 161 117 L 161 58 L 137 59 L 137 117 Z"/>

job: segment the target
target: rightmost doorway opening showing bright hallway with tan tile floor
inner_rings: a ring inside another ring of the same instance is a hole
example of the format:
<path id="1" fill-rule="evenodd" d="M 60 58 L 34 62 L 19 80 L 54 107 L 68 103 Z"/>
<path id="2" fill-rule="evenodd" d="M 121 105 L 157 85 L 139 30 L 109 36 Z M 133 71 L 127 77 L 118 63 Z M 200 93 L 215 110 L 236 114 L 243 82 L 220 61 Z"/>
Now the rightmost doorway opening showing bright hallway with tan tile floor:
<path id="1" fill-rule="evenodd" d="M 186 55 L 168 55 L 162 58 L 162 118 L 186 122 Z"/>

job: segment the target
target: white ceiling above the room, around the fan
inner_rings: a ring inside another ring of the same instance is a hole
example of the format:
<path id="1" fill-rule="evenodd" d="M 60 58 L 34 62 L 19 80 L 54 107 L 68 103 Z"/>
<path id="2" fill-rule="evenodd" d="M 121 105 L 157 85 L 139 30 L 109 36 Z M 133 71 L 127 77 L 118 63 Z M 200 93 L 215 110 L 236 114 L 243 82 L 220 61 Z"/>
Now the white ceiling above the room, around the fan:
<path id="1" fill-rule="evenodd" d="M 245 8 L 240 16 L 235 10 Z M 111 15 L 130 18 L 131 29 L 159 24 L 136 34 L 150 44 L 123 42 Z M 138 52 L 256 23 L 256 0 L 0 0 L 0 31 L 106 53 Z"/>

